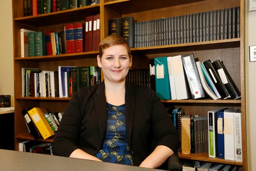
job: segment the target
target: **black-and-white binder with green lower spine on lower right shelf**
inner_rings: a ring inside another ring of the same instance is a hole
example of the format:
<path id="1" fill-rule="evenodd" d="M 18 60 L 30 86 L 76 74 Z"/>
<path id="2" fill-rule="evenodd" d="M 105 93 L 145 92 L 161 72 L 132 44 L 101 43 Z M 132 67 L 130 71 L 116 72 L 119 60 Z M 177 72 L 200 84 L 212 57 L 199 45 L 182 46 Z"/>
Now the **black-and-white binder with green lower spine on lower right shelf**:
<path id="1" fill-rule="evenodd" d="M 208 111 L 208 149 L 209 157 L 215 158 L 217 152 L 217 126 L 216 126 L 216 116 L 217 112 L 223 109 L 216 109 Z"/>

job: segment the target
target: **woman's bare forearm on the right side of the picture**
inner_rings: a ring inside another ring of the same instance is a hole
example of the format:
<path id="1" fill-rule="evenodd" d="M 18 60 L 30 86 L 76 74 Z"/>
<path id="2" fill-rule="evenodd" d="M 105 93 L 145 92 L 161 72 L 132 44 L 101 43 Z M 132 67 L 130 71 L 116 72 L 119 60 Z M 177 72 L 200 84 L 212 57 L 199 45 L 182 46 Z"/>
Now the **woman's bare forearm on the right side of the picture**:
<path id="1" fill-rule="evenodd" d="M 173 154 L 174 152 L 169 147 L 158 145 L 155 150 L 140 164 L 140 167 L 157 168 Z"/>

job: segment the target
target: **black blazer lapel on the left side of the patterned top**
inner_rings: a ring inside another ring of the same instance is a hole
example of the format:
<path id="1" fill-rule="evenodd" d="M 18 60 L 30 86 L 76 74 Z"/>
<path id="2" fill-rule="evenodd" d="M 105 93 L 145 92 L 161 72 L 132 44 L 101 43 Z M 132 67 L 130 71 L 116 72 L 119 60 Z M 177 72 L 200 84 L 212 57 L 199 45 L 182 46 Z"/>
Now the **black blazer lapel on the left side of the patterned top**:
<path id="1" fill-rule="evenodd" d="M 106 98 L 104 93 L 104 82 L 102 82 L 94 94 L 96 115 L 99 123 L 100 142 L 105 138 L 108 116 L 106 114 Z"/>

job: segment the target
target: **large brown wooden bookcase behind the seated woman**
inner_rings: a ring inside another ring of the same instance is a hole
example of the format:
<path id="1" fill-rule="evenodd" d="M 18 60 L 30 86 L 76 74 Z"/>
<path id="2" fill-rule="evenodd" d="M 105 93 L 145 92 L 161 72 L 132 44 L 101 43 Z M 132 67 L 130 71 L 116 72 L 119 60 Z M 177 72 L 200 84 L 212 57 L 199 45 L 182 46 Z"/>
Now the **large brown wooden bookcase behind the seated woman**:
<path id="1" fill-rule="evenodd" d="M 22 68 L 55 70 L 58 66 L 93 66 L 97 65 L 97 51 L 55 56 L 20 57 L 20 29 L 34 31 L 61 31 L 66 24 L 83 22 L 86 16 L 100 14 L 100 38 L 108 35 L 108 19 L 133 16 L 136 22 L 153 20 L 161 17 L 181 16 L 199 12 L 213 11 L 240 6 L 240 37 L 213 41 L 191 42 L 156 47 L 132 48 L 133 67 L 148 68 L 148 59 L 160 56 L 187 55 L 194 53 L 200 61 L 211 59 L 223 60 L 227 71 L 241 92 L 238 100 L 163 100 L 167 105 L 182 106 L 187 114 L 206 116 L 207 111 L 217 108 L 234 107 L 242 113 L 243 162 L 209 158 L 208 154 L 180 154 L 183 159 L 219 162 L 246 166 L 246 123 L 245 123 L 245 61 L 244 61 L 244 0 L 101 0 L 100 4 L 66 11 L 23 16 L 23 1 L 12 1 L 13 41 L 14 41 L 14 95 L 15 95 L 15 149 L 18 142 L 33 139 L 29 135 L 21 111 L 29 107 L 44 107 L 51 111 L 63 111 L 70 98 L 59 97 L 22 97 Z M 52 139 L 41 140 L 52 142 Z"/>

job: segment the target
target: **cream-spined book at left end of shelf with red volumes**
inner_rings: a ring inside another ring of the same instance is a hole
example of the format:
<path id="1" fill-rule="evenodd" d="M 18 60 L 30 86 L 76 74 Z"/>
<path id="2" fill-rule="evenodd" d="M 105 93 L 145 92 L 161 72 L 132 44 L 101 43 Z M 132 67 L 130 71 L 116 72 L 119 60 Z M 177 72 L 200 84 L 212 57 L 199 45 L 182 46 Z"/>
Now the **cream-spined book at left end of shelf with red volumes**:
<path id="1" fill-rule="evenodd" d="M 32 30 L 20 29 L 20 57 L 28 57 L 28 33 Z"/>

